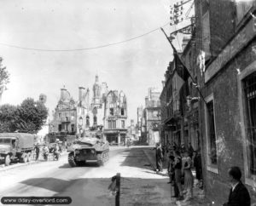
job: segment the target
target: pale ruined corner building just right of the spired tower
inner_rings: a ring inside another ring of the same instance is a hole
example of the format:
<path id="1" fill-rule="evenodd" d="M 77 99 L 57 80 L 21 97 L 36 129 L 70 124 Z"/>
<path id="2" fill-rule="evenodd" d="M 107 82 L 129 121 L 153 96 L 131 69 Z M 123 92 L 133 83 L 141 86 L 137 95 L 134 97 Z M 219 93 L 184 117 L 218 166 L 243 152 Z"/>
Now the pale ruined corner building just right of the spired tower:
<path id="1" fill-rule="evenodd" d="M 127 133 L 127 100 L 124 92 L 111 90 L 105 98 L 104 134 L 108 142 L 125 145 Z"/>

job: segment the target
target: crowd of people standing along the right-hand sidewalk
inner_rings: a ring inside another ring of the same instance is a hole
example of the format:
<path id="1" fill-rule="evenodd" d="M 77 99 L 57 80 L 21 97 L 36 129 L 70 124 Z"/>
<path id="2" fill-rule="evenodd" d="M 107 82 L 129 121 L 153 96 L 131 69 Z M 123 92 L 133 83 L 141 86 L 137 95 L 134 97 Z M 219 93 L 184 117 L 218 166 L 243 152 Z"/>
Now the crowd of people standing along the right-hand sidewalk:
<path id="1" fill-rule="evenodd" d="M 184 144 L 177 146 L 175 143 L 172 146 L 161 148 L 160 143 L 156 144 L 156 171 L 162 172 L 162 162 L 165 154 L 168 155 L 167 170 L 170 176 L 170 181 L 174 187 L 174 196 L 178 200 L 189 200 L 193 197 L 194 176 L 191 169 L 195 167 L 196 179 L 199 186 L 202 188 L 201 175 L 201 154 L 200 149 L 194 151 L 191 143 L 188 149 Z"/>

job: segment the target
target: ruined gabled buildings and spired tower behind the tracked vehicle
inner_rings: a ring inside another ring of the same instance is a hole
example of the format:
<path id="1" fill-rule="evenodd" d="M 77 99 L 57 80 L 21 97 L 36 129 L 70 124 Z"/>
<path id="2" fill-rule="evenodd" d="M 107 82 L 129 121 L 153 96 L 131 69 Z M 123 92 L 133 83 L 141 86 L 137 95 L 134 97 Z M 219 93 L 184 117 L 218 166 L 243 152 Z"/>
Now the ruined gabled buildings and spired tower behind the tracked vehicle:
<path id="1" fill-rule="evenodd" d="M 67 89 L 61 89 L 61 98 L 55 107 L 53 120 L 50 123 L 50 133 L 61 134 L 82 134 L 84 130 L 91 127 L 103 126 L 104 105 L 108 93 L 107 83 L 99 83 L 96 75 L 96 82 L 90 89 L 79 87 L 79 100 L 75 101 Z"/>

